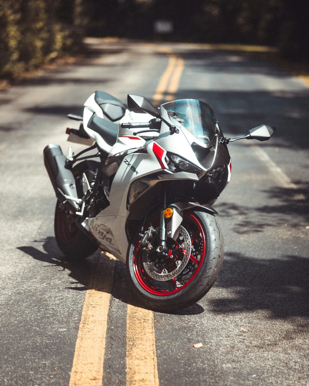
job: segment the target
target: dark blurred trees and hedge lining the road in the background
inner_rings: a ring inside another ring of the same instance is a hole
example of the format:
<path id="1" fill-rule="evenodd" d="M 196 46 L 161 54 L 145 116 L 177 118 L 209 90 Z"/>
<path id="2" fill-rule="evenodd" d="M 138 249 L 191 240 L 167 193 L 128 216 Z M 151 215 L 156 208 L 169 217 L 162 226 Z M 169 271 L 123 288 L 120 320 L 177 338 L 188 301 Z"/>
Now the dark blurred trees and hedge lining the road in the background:
<path id="1" fill-rule="evenodd" d="M 308 11 L 290 0 L 0 0 L 0 79 L 80 54 L 85 36 L 266 45 L 308 75 Z"/>

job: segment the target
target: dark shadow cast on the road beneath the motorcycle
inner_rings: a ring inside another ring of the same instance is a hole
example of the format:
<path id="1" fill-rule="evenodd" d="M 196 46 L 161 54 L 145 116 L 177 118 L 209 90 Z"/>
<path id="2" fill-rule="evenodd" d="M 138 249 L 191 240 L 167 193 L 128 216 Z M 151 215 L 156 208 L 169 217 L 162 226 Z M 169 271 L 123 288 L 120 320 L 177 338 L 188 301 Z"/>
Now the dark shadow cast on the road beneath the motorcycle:
<path id="1" fill-rule="evenodd" d="M 68 277 L 73 279 L 65 288 L 73 291 L 87 291 L 95 289 L 110 293 L 111 302 L 125 303 L 127 305 L 144 308 L 145 305 L 137 300 L 129 287 L 126 274 L 126 265 L 115 260 L 110 254 L 96 251 L 86 259 L 71 259 L 63 256 L 58 249 L 54 237 L 34 240 L 34 245 L 17 247 L 20 251 L 31 256 L 37 261 L 46 263 L 45 267 L 61 267 L 68 271 Z M 39 245 L 38 248 L 35 245 Z M 43 251 L 42 251 L 43 249 Z M 195 303 L 192 306 L 168 312 L 173 315 L 197 315 L 204 312 L 204 308 Z"/>

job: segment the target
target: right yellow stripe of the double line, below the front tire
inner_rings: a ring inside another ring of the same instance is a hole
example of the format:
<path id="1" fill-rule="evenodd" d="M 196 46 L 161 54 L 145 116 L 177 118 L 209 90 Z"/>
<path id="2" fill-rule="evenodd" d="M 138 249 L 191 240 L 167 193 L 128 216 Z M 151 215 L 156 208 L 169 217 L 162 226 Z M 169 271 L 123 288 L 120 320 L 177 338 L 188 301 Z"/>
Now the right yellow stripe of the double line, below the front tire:
<path id="1" fill-rule="evenodd" d="M 153 312 L 128 305 L 127 386 L 159 386 Z"/>

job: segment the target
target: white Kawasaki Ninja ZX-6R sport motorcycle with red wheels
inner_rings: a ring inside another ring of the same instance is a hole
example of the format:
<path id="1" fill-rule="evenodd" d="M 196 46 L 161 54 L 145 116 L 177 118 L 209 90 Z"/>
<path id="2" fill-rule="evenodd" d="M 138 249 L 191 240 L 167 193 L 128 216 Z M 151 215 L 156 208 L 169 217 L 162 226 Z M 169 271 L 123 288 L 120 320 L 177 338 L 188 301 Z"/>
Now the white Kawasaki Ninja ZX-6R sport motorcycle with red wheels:
<path id="1" fill-rule="evenodd" d="M 224 241 L 212 205 L 231 177 L 227 144 L 268 140 L 261 125 L 224 137 L 205 102 L 174 100 L 154 107 L 128 95 L 127 106 L 96 91 L 85 102 L 68 141 L 88 147 L 65 156 L 56 144 L 44 164 L 57 197 L 54 231 L 68 257 L 98 247 L 124 262 L 129 284 L 145 306 L 162 312 L 187 307 L 212 287 Z"/>

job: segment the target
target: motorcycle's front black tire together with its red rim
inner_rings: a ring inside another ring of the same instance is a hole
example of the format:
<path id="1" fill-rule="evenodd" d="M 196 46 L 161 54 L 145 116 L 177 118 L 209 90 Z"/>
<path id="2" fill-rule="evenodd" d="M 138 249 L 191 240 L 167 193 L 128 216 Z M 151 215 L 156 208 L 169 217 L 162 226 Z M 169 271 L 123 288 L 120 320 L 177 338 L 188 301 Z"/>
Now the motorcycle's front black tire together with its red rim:
<path id="1" fill-rule="evenodd" d="M 150 223 L 156 227 L 158 217 L 151 218 Z M 183 215 L 182 227 L 190 235 L 192 243 L 190 259 L 185 269 L 168 281 L 158 281 L 146 272 L 143 266 L 143 253 L 145 252 L 138 250 L 139 232 L 129 244 L 126 263 L 129 284 L 139 300 L 156 311 L 171 312 L 196 303 L 211 289 L 222 266 L 224 241 L 221 228 L 213 215 L 186 211 Z M 147 228 L 145 227 L 145 229 Z M 174 247 L 171 258 L 174 256 L 178 243 L 176 259 L 181 260 L 180 254 L 183 253 L 180 252 L 181 238 L 182 236 L 178 237 L 176 242 L 171 239 L 170 243 L 174 243 L 170 244 L 171 247 Z M 168 247 L 170 248 L 169 245 Z M 154 254 L 156 252 L 153 252 Z M 154 256 L 150 256 L 150 258 L 152 261 L 155 259 Z M 160 263 L 158 262 L 158 264 Z"/>

